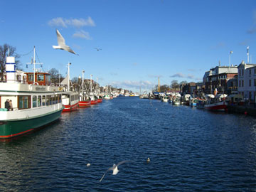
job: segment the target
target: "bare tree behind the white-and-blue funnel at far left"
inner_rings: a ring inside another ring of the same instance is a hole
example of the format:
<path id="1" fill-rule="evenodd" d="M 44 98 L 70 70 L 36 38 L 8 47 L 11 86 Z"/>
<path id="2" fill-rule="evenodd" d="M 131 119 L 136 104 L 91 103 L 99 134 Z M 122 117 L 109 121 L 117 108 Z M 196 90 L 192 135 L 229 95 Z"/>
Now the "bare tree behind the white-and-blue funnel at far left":
<path id="1" fill-rule="evenodd" d="M 19 68 L 20 61 L 17 58 L 20 58 L 20 55 L 15 53 L 16 48 L 13 46 L 9 46 L 8 44 L 4 44 L 4 46 L 0 46 L 0 78 L 4 79 L 5 65 L 6 65 L 6 57 L 12 56 L 15 57 L 16 68 Z"/>

